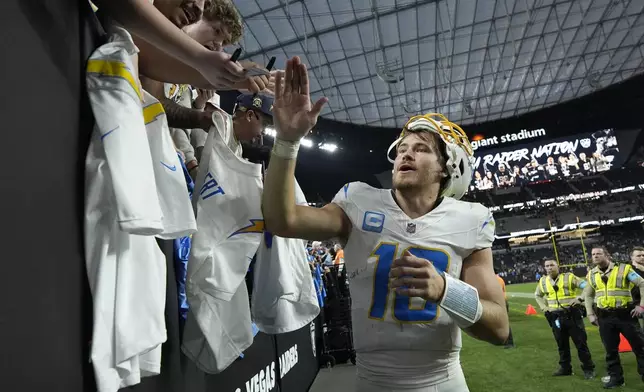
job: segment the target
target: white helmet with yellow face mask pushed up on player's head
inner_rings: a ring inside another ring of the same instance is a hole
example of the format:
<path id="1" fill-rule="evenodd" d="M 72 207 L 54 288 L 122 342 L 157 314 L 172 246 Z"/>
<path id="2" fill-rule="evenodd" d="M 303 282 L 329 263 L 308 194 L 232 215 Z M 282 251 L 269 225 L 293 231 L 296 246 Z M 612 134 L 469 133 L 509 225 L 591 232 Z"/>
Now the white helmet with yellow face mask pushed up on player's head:
<path id="1" fill-rule="evenodd" d="M 387 150 L 387 159 L 393 149 L 397 148 L 404 137 L 410 132 L 432 132 L 444 143 L 448 180 L 441 189 L 441 196 L 460 199 L 467 193 L 472 180 L 472 166 L 474 152 L 465 132 L 456 124 L 450 122 L 445 116 L 429 113 L 414 116 L 403 127 L 403 131 L 396 141 Z"/>

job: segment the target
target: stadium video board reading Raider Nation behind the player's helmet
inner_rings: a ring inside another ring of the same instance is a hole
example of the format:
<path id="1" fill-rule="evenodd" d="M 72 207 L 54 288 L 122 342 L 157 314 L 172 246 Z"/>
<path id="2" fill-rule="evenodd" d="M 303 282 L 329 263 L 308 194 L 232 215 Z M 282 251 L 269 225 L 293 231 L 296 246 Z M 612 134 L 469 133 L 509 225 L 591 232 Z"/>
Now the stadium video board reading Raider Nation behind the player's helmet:
<path id="1" fill-rule="evenodd" d="M 593 175 L 621 167 L 625 155 L 613 129 L 504 148 L 478 148 L 470 190 Z"/>

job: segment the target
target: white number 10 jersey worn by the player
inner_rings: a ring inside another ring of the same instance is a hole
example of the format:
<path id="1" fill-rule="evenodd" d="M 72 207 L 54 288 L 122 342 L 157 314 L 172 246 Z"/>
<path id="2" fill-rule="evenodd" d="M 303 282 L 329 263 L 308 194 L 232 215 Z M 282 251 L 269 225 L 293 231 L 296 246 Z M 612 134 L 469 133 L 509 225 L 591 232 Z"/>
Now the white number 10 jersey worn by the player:
<path id="1" fill-rule="evenodd" d="M 461 331 L 435 303 L 389 289 L 392 262 L 409 250 L 460 278 L 463 260 L 494 240 L 494 220 L 480 204 L 443 198 L 410 219 L 391 190 L 350 183 L 333 199 L 353 228 L 344 248 L 351 279 L 358 375 L 390 388 L 423 388 L 461 374 Z M 397 390 L 397 389 L 396 389 Z"/>

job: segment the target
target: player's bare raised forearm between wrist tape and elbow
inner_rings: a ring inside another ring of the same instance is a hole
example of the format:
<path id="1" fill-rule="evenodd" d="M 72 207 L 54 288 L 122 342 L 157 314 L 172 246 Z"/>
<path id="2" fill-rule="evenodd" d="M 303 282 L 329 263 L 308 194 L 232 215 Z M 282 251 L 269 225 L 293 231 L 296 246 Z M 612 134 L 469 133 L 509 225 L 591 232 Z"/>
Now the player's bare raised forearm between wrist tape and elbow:
<path id="1" fill-rule="evenodd" d="M 271 155 L 264 192 L 262 213 L 266 229 L 280 237 L 288 237 L 295 220 L 295 159 Z"/>

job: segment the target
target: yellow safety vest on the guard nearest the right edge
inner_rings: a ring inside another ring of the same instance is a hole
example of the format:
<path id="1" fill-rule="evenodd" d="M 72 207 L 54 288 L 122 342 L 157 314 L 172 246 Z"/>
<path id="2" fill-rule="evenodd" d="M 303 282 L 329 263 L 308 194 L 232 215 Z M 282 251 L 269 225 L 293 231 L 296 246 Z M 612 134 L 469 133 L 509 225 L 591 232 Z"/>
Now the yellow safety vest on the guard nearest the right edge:
<path id="1" fill-rule="evenodd" d="M 602 280 L 602 272 L 595 267 L 588 272 L 588 282 L 595 289 L 595 303 L 600 309 L 623 308 L 633 302 L 631 289 L 634 284 L 628 280 L 633 270 L 629 264 L 614 265 L 607 275 L 608 281 Z"/>

